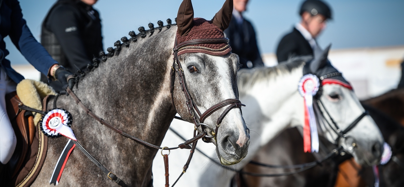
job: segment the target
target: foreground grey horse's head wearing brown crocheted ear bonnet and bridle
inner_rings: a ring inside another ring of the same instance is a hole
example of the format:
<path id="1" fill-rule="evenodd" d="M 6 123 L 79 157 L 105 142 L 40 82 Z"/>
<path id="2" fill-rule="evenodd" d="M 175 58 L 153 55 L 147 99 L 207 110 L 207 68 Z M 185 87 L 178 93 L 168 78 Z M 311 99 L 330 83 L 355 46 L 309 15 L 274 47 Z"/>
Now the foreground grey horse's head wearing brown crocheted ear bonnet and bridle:
<path id="1" fill-rule="evenodd" d="M 240 103 L 236 103 L 239 59 L 231 53 L 223 34 L 232 10 L 233 1 L 227 0 L 208 21 L 194 18 L 191 0 L 183 0 L 177 16 L 173 64 L 173 72 L 178 74 L 175 81 L 179 82 L 173 88 L 178 114 L 207 134 L 204 141 L 217 145 L 217 156 L 224 165 L 240 162 L 249 144 L 249 130 Z M 228 99 L 232 100 L 223 103 Z M 226 109 L 229 104 L 235 109 Z"/>

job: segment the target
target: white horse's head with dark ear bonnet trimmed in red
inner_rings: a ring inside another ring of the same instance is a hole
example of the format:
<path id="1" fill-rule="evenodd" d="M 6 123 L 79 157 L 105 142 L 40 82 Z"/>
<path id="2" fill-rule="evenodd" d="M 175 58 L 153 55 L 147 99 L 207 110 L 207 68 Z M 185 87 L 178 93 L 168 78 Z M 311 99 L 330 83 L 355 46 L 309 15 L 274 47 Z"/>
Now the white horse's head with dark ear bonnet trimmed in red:
<path id="1" fill-rule="evenodd" d="M 331 142 L 342 146 L 359 164 L 377 164 L 383 152 L 383 137 L 375 121 L 367 115 L 351 85 L 327 59 L 328 50 L 317 48 L 314 60 L 303 68 L 320 77 L 316 106 L 320 127 Z"/>

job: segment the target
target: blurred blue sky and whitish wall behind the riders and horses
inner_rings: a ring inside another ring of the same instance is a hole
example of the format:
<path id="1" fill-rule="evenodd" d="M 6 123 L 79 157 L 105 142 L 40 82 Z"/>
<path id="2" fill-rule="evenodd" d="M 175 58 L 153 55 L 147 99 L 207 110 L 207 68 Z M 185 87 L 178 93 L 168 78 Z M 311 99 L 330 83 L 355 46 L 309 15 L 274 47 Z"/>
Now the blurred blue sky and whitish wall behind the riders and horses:
<path id="1" fill-rule="evenodd" d="M 174 21 L 182 0 L 99 0 L 104 50 L 129 31 L 148 23 Z M 332 7 L 333 19 L 318 37 L 320 47 L 332 44 L 329 59 L 351 82 L 360 99 L 378 96 L 397 86 L 404 58 L 403 0 L 325 0 Z M 23 15 L 34 37 L 40 41 L 42 20 L 56 0 L 20 0 Z M 195 17 L 212 18 L 223 0 L 194 0 Z M 300 16 L 301 0 L 250 0 L 243 15 L 252 22 L 266 66 L 278 62 L 274 52 L 282 36 L 291 31 Z M 214 7 L 214 8 L 212 8 Z M 36 71 L 11 43 L 12 66 L 27 79 L 39 80 Z"/>

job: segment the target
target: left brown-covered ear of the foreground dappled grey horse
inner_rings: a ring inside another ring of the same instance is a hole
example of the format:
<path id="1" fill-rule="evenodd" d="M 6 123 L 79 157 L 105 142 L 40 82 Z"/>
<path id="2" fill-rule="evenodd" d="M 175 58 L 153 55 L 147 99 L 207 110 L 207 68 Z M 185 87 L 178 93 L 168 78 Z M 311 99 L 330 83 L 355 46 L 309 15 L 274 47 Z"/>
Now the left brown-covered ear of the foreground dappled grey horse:
<path id="1" fill-rule="evenodd" d="M 194 8 L 191 0 L 183 0 L 177 14 L 177 33 L 180 36 L 188 35 L 194 25 Z"/>

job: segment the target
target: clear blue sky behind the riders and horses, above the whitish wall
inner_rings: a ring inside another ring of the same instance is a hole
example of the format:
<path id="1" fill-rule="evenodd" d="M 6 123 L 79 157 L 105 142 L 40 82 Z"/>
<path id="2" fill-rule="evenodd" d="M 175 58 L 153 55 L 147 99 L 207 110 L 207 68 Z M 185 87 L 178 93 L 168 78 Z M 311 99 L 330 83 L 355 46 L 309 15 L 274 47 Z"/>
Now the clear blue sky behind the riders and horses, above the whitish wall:
<path id="1" fill-rule="evenodd" d="M 56 0 L 20 0 L 24 18 L 32 33 L 40 40 L 41 23 Z M 211 19 L 224 0 L 193 0 L 195 17 Z M 255 26 L 261 53 L 276 51 L 281 37 L 299 21 L 301 0 L 250 0 L 244 17 Z M 327 0 L 334 19 L 327 25 L 318 42 L 332 49 L 404 45 L 404 0 Z M 99 0 L 95 8 L 101 14 L 104 48 L 129 31 L 158 20 L 174 22 L 181 0 Z M 12 64 L 27 61 L 5 39 Z"/>

